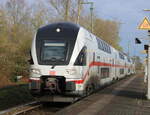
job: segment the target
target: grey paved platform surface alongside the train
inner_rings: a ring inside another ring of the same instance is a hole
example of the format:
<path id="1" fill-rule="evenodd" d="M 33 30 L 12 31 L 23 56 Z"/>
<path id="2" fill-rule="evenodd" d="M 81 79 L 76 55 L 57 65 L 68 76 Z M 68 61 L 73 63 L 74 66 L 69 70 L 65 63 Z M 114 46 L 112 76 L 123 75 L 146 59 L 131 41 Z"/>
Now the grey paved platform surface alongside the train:
<path id="1" fill-rule="evenodd" d="M 57 115 L 150 115 L 143 75 L 130 76 L 63 109 Z"/>

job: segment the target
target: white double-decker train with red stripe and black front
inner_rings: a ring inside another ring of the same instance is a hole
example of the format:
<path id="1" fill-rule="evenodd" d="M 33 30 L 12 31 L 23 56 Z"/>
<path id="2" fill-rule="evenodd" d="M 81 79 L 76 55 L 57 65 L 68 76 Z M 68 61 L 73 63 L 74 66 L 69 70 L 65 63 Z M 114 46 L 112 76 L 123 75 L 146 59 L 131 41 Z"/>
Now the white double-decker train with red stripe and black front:
<path id="1" fill-rule="evenodd" d="M 30 64 L 29 88 L 34 96 L 82 97 L 135 72 L 130 57 L 69 22 L 37 30 Z"/>

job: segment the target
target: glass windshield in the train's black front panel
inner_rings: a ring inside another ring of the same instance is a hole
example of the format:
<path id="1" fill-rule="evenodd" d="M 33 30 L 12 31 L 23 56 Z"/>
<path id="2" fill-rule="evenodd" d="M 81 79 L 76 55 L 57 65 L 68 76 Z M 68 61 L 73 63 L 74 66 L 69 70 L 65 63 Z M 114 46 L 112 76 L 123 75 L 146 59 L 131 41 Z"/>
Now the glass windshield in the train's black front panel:
<path id="1" fill-rule="evenodd" d="M 67 43 L 65 42 L 44 40 L 41 51 L 41 60 L 51 62 L 65 61 L 67 54 L 66 49 Z"/>

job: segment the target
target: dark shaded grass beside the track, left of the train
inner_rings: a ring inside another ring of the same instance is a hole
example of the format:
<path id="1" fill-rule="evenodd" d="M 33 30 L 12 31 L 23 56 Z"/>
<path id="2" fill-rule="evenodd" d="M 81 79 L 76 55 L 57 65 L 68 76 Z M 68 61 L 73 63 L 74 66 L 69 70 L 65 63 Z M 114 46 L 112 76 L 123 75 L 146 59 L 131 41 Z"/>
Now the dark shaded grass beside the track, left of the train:
<path id="1" fill-rule="evenodd" d="M 34 101 L 28 85 L 8 86 L 0 89 L 0 110 Z"/>

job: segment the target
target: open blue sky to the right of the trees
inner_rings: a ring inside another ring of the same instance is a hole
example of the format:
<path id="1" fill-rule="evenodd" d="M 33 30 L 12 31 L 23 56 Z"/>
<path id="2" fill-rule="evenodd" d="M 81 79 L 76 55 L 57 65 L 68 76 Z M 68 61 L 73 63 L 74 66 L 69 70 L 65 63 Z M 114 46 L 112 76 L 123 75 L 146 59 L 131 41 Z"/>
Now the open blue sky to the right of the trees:
<path id="1" fill-rule="evenodd" d="M 102 19 L 116 20 L 120 22 L 119 36 L 121 38 L 120 45 L 124 52 L 128 52 L 131 56 L 137 55 L 145 57 L 140 52 L 144 50 L 144 44 L 148 43 L 147 30 L 137 29 L 142 23 L 144 17 L 150 17 L 150 0 L 88 0 L 94 2 L 94 10 Z M 108 25 L 109 26 L 109 25 Z M 135 44 L 135 38 L 141 39 L 142 44 Z"/>

